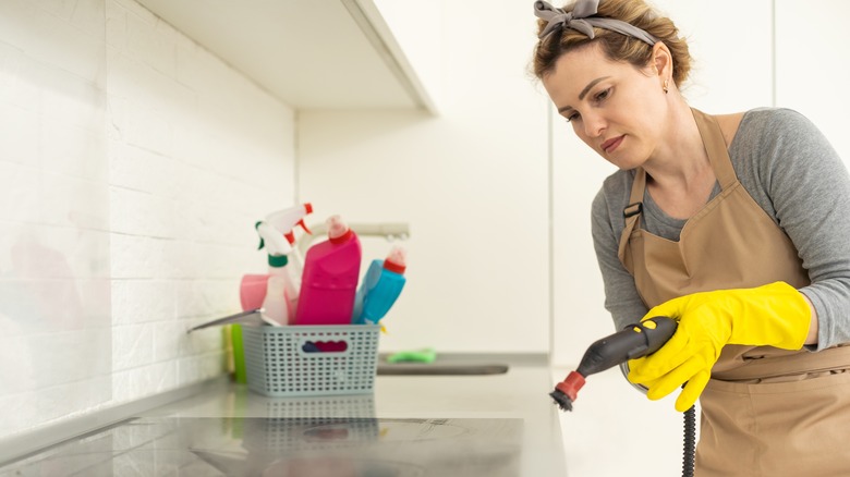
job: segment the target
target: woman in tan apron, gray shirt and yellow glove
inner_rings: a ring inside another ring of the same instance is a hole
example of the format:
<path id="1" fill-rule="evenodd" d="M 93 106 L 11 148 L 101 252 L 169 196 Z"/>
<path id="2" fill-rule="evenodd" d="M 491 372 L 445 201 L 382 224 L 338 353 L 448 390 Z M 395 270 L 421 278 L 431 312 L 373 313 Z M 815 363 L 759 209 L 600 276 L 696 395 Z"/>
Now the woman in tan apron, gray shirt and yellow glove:
<path id="1" fill-rule="evenodd" d="M 800 114 L 709 115 L 690 57 L 642 0 L 535 2 L 534 72 L 620 170 L 593 203 L 606 308 L 673 338 L 628 378 L 699 397 L 697 475 L 850 475 L 850 178 Z"/>

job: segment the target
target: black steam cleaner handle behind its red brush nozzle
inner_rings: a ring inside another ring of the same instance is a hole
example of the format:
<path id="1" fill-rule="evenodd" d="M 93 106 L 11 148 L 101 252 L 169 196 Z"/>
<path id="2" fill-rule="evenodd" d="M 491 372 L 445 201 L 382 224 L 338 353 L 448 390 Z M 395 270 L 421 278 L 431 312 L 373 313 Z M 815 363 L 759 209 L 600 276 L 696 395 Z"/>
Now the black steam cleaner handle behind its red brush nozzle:
<path id="1" fill-rule="evenodd" d="M 584 353 L 576 371 L 586 378 L 629 359 L 655 353 L 672 337 L 677 326 L 676 320 L 664 316 L 630 325 L 593 343 Z"/>

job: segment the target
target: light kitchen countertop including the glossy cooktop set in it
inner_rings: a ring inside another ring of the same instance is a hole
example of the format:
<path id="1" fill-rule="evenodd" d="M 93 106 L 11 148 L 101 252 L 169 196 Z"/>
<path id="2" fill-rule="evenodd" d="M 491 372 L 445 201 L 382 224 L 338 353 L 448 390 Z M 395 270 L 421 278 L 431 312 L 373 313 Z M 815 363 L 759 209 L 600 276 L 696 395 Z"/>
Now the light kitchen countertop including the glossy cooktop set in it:
<path id="1" fill-rule="evenodd" d="M 496 375 L 379 375 L 373 393 L 337 396 L 267 397 L 220 379 L 0 476 L 566 476 L 551 369 L 506 364 Z"/>

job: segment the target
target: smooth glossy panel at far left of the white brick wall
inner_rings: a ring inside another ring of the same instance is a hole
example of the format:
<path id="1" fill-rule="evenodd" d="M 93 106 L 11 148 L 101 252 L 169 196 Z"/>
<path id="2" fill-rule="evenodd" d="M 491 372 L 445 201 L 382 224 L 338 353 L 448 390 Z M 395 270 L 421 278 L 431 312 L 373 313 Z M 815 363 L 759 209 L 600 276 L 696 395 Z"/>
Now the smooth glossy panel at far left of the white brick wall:
<path id="1" fill-rule="evenodd" d="M 0 3 L 3 433 L 112 391 L 104 9 L 44 3 Z"/>

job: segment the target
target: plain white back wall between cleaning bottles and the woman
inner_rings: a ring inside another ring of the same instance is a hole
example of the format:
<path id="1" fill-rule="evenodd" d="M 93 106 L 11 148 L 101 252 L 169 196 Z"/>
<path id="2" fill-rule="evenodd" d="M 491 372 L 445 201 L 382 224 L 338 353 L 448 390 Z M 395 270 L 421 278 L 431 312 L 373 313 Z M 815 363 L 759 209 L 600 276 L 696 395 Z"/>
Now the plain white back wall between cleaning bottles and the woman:
<path id="1" fill-rule="evenodd" d="M 440 78 L 437 117 L 299 114 L 300 200 L 315 220 L 410 222 L 385 351 L 548 350 L 547 99 L 525 74 L 531 3 L 498 3 L 440 2 L 439 24 L 420 37 L 440 48 L 428 70 Z M 372 242 L 369 258 L 382 257 L 389 244 Z"/>

